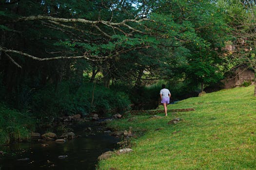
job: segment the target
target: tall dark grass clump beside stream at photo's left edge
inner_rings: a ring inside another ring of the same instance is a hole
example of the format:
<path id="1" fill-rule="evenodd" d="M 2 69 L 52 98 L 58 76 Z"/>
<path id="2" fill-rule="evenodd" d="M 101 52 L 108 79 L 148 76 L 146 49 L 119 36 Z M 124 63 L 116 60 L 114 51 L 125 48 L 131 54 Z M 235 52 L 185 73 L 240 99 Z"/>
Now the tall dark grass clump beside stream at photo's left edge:
<path id="1" fill-rule="evenodd" d="M 21 113 L 0 103 L 0 145 L 28 139 L 36 120 L 28 113 Z"/>

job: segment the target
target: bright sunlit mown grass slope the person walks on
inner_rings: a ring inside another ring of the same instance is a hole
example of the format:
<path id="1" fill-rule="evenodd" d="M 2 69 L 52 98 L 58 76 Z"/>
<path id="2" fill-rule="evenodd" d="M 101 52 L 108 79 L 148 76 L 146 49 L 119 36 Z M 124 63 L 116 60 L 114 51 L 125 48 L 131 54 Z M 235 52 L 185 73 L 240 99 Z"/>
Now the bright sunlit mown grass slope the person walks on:
<path id="1" fill-rule="evenodd" d="M 132 139 L 132 153 L 98 163 L 98 170 L 255 170 L 256 97 L 254 87 L 239 87 L 190 98 L 169 109 L 167 118 L 131 116 L 110 122 L 116 129 L 144 132 Z M 161 108 L 162 109 L 162 108 Z M 163 116 L 163 113 L 159 114 Z M 177 124 L 167 124 L 180 118 Z"/>

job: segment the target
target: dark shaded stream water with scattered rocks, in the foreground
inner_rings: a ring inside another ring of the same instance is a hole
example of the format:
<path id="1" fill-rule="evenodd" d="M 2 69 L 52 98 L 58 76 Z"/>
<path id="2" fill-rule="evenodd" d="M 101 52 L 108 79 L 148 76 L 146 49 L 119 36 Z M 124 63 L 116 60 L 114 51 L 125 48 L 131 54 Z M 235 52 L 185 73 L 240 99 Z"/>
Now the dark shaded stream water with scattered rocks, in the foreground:
<path id="1" fill-rule="evenodd" d="M 92 127 L 92 133 L 84 132 Z M 0 170 L 95 170 L 101 153 L 113 151 L 118 138 L 97 132 L 97 126 L 79 125 L 73 127 L 79 138 L 67 139 L 65 143 L 47 141 L 47 147 L 39 142 L 16 143 L 0 147 Z M 60 155 L 67 155 L 59 159 Z M 29 158 L 19 161 L 18 159 Z"/>

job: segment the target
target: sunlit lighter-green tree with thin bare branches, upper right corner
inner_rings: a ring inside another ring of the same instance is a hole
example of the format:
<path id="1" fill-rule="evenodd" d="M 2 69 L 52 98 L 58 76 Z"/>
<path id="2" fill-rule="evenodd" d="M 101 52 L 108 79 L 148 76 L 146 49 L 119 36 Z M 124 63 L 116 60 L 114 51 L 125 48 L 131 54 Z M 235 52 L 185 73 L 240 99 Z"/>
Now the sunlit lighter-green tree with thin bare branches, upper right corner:
<path id="1" fill-rule="evenodd" d="M 256 73 L 256 2 L 255 0 L 219 0 L 225 8 L 225 20 L 230 27 L 230 40 L 235 47 L 226 60 L 237 67 L 246 65 Z M 256 96 L 256 79 L 255 92 Z"/>

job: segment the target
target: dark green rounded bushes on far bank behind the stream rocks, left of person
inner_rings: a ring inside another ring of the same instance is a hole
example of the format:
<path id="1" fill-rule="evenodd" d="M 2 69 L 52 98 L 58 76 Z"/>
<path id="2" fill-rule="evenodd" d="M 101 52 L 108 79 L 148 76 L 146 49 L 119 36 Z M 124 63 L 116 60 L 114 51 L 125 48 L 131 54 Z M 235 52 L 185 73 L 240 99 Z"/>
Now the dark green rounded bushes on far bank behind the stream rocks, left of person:
<path id="1" fill-rule="evenodd" d="M 59 83 L 40 89 L 32 99 L 32 111 L 38 117 L 88 115 L 92 111 L 100 114 L 123 113 L 129 109 L 130 101 L 125 93 L 94 84 L 82 83 L 79 87 L 72 82 Z M 94 93 L 94 96 L 93 96 Z M 93 103 L 92 103 L 93 99 Z"/>

